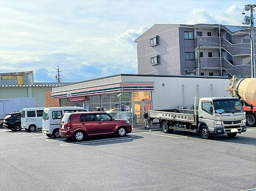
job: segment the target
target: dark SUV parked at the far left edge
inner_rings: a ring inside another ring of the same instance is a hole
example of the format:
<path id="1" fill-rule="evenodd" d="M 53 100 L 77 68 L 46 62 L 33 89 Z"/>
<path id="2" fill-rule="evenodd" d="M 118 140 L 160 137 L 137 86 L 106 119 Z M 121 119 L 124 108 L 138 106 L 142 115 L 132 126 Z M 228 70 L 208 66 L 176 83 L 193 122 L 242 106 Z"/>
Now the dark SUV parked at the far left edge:
<path id="1" fill-rule="evenodd" d="M 21 112 L 10 113 L 3 118 L 3 127 L 12 131 L 20 131 Z"/>

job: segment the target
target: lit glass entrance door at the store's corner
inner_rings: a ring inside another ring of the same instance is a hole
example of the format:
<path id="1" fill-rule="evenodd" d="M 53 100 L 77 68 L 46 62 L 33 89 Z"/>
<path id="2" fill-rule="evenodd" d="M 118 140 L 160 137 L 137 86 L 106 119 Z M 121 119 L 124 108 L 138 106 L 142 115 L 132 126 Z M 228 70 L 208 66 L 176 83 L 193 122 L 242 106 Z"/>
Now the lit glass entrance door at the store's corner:
<path id="1" fill-rule="evenodd" d="M 136 102 L 133 107 L 133 124 L 143 125 L 145 112 L 151 109 L 151 102 Z"/>

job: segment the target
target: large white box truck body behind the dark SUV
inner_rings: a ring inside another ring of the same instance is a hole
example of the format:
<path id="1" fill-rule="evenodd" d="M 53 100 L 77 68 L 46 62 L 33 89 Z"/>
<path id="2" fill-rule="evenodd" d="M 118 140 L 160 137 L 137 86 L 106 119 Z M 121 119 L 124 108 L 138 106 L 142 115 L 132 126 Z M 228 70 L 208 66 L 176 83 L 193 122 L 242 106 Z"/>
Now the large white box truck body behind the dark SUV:
<path id="1" fill-rule="evenodd" d="M 0 125 L 7 114 L 30 107 L 36 107 L 35 97 L 0 99 Z"/>

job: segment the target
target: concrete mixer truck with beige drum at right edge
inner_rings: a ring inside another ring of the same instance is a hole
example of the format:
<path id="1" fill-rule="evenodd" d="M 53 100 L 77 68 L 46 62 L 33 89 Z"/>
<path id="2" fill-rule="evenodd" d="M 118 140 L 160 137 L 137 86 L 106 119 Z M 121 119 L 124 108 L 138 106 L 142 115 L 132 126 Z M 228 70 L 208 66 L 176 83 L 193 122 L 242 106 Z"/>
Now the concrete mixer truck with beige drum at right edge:
<path id="1" fill-rule="evenodd" d="M 241 99 L 246 112 L 246 125 L 256 126 L 256 78 L 238 78 L 234 76 L 227 86 L 233 97 Z"/>

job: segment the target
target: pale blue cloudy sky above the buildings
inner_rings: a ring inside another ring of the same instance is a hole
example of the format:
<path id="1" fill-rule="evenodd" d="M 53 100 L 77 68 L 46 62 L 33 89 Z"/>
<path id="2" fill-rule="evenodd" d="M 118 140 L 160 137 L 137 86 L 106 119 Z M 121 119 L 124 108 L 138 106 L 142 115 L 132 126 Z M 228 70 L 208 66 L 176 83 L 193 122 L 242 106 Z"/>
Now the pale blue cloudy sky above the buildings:
<path id="1" fill-rule="evenodd" d="M 137 74 L 134 39 L 154 24 L 241 25 L 248 0 L 0 0 L 0 73 L 35 82 Z"/>

